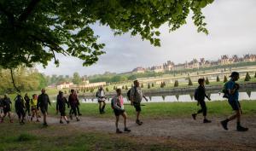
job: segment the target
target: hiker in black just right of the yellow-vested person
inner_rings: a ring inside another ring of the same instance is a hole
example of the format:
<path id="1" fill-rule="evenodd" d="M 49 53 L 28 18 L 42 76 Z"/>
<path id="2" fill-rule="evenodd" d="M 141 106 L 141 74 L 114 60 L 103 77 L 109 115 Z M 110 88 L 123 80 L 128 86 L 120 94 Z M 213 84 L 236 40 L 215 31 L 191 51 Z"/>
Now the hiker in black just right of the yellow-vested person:
<path id="1" fill-rule="evenodd" d="M 46 122 L 46 118 L 47 118 L 47 113 L 48 113 L 48 104 L 50 104 L 49 102 L 49 96 L 45 93 L 45 89 L 41 90 L 42 94 L 38 96 L 38 105 L 37 105 L 37 109 L 38 107 L 40 107 L 41 112 L 43 113 L 44 116 L 44 126 L 48 126 L 47 122 Z"/>

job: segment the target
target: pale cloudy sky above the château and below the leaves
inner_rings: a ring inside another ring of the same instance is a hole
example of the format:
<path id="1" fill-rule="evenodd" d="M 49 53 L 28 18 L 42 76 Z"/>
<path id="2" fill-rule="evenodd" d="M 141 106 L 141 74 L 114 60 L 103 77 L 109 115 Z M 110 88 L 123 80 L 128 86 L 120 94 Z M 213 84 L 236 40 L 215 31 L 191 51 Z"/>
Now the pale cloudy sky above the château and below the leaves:
<path id="1" fill-rule="evenodd" d="M 191 15 L 187 24 L 169 32 L 166 25 L 160 27 L 161 46 L 154 47 L 140 36 L 129 33 L 113 36 L 108 26 L 93 26 L 100 42 L 106 44 L 106 54 L 90 67 L 83 67 L 83 61 L 73 57 L 57 55 L 60 66 L 53 61 L 38 71 L 46 75 L 93 75 L 105 72 L 126 73 L 135 67 L 152 67 L 166 61 L 175 64 L 200 59 L 218 60 L 221 55 L 256 54 L 256 1 L 215 0 L 203 9 L 209 34 L 196 32 Z"/>

